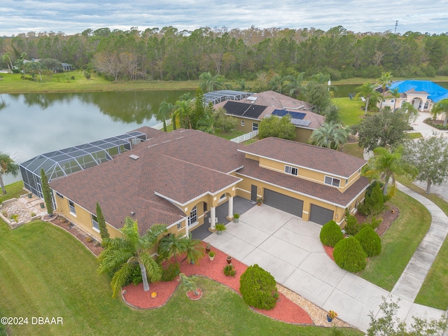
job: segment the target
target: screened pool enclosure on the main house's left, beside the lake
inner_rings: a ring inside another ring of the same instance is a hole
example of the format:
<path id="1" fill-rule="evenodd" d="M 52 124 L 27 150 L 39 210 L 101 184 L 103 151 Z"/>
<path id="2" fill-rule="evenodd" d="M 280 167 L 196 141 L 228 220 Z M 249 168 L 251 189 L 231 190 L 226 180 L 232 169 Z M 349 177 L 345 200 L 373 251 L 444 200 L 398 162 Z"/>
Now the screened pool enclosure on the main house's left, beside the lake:
<path id="1" fill-rule="evenodd" d="M 110 161 L 113 155 L 130 151 L 132 145 L 139 144 L 141 141 L 146 141 L 146 134 L 132 131 L 89 144 L 38 155 L 20 164 L 23 184 L 31 193 L 43 198 L 41 169 L 48 177 L 48 181 L 51 181 Z"/>

